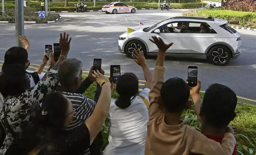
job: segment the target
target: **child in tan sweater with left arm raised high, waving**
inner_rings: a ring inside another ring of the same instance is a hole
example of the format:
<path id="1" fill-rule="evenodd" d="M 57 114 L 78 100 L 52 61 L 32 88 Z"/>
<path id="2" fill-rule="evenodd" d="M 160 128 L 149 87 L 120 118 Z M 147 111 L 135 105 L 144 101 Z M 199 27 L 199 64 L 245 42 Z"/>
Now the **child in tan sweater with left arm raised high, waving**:
<path id="1" fill-rule="evenodd" d="M 153 40 L 152 40 L 153 39 Z M 236 141 L 232 128 L 224 135 L 222 143 L 208 139 L 196 129 L 184 125 L 180 117 L 183 110 L 190 108 L 190 89 L 178 77 L 165 81 L 163 68 L 165 52 L 173 43 L 166 44 L 161 38 L 150 39 L 159 49 L 149 93 L 149 122 L 145 155 L 231 155 Z M 164 82 L 165 81 L 165 82 Z"/>

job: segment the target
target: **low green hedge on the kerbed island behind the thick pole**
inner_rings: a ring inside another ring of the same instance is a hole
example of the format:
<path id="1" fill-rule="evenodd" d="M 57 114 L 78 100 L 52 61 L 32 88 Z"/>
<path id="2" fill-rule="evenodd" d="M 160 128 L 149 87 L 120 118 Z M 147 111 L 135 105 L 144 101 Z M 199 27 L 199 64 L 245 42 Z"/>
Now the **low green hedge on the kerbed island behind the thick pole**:
<path id="1" fill-rule="evenodd" d="M 2 10 L 0 11 L 0 21 L 15 21 L 15 9 L 7 9 L 4 14 L 2 14 Z M 54 21 L 58 17 L 60 17 L 58 13 L 49 13 L 47 17 L 39 18 L 35 11 L 24 11 L 24 21 Z"/>

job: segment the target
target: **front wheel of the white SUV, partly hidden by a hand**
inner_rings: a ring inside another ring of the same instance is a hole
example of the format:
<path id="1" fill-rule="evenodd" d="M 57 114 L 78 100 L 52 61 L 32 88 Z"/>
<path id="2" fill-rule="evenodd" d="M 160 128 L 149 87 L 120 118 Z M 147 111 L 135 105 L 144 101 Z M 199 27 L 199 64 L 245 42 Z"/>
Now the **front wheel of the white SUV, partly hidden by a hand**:
<path id="1" fill-rule="evenodd" d="M 139 48 L 140 51 L 143 51 L 143 54 L 144 54 L 145 57 L 147 56 L 147 49 L 146 49 L 144 43 L 142 43 L 139 40 L 131 40 L 130 42 L 128 42 L 126 44 L 126 47 L 124 49 L 126 57 L 132 58 L 132 52 L 136 48 Z"/>

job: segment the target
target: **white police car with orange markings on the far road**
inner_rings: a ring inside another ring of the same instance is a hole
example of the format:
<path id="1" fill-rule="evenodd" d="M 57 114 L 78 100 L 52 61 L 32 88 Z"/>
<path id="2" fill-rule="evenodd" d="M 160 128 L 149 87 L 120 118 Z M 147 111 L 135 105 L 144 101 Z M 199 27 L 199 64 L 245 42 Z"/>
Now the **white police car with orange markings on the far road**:
<path id="1" fill-rule="evenodd" d="M 113 13 L 113 14 L 127 13 L 127 12 L 135 13 L 136 8 L 133 7 L 133 6 L 128 6 L 128 5 L 126 5 L 124 3 L 121 3 L 121 2 L 112 2 L 112 3 L 109 3 L 105 6 L 102 6 L 101 11 L 105 12 L 105 13 Z"/>

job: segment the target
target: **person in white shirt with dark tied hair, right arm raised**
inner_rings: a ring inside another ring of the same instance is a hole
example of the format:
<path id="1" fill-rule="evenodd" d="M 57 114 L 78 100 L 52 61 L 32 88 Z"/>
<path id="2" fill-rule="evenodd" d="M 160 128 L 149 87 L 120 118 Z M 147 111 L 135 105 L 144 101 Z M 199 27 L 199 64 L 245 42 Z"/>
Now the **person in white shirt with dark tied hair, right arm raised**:
<path id="1" fill-rule="evenodd" d="M 103 155 L 144 155 L 147 135 L 149 91 L 151 89 L 151 73 L 147 67 L 143 51 L 134 50 L 134 61 L 144 71 L 145 86 L 139 92 L 139 81 L 133 73 L 119 77 L 116 100 L 111 100 L 108 119 L 110 123 L 109 144 Z M 114 86 L 111 86 L 113 91 Z"/>

